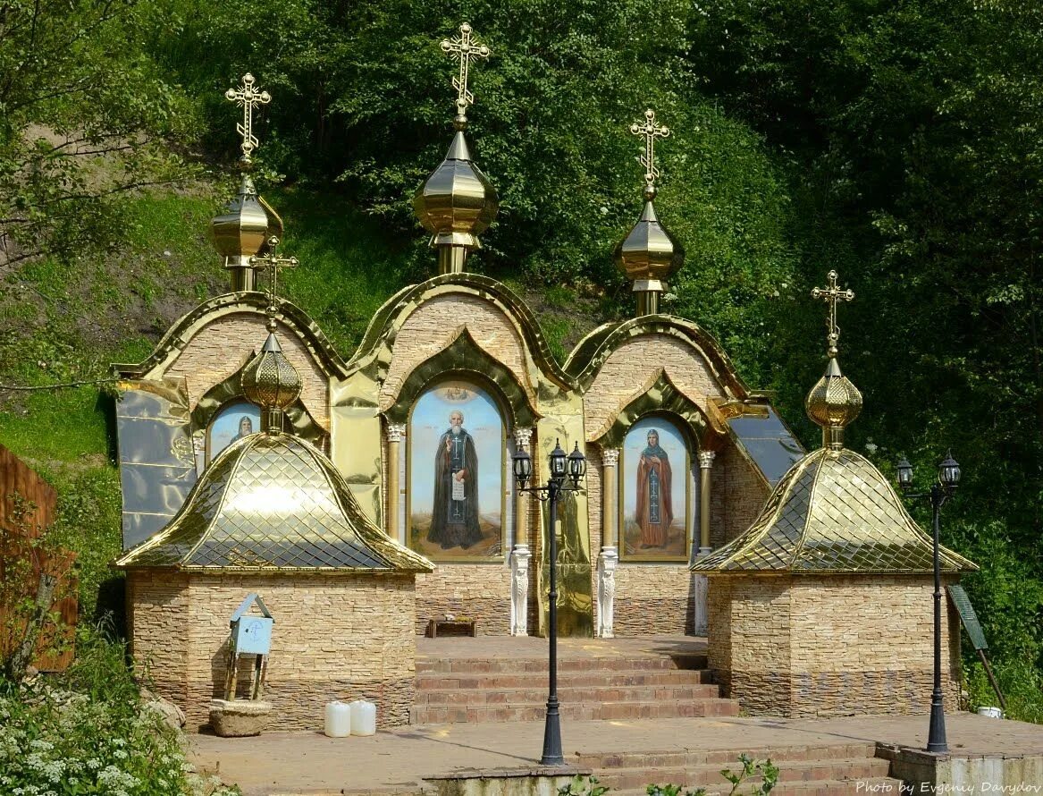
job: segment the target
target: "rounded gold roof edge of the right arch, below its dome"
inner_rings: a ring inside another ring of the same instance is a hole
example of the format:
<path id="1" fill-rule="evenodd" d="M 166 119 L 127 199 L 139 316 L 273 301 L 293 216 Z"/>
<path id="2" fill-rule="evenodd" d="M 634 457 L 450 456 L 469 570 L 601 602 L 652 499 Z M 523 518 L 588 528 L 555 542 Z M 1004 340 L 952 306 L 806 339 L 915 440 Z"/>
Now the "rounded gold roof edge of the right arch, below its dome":
<path id="1" fill-rule="evenodd" d="M 565 360 L 564 370 L 581 392 L 593 383 L 605 361 L 621 346 L 644 335 L 659 335 L 680 340 L 697 351 L 724 389 L 728 400 L 755 397 L 738 376 L 721 344 L 698 323 L 673 315 L 644 315 L 622 323 L 605 323 L 584 337 Z"/>

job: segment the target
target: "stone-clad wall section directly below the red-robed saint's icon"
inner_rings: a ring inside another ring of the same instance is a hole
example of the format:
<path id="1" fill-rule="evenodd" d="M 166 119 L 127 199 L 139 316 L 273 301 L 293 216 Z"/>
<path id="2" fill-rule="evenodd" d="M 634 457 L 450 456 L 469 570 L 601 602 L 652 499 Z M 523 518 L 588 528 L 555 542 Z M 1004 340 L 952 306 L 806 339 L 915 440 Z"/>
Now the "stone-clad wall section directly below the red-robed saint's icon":
<path id="1" fill-rule="evenodd" d="M 684 563 L 621 562 L 615 570 L 615 635 L 694 634 L 694 577 Z"/>

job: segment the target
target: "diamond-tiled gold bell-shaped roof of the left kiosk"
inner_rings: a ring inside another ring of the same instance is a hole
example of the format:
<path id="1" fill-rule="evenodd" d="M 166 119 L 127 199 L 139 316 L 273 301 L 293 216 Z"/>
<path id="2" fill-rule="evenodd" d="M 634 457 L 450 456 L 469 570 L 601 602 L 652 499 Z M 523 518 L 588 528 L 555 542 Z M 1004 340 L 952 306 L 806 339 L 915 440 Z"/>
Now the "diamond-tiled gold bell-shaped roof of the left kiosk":
<path id="1" fill-rule="evenodd" d="M 252 434 L 207 468 L 178 514 L 116 561 L 184 571 L 431 572 L 355 502 L 333 464 L 289 434 Z"/>

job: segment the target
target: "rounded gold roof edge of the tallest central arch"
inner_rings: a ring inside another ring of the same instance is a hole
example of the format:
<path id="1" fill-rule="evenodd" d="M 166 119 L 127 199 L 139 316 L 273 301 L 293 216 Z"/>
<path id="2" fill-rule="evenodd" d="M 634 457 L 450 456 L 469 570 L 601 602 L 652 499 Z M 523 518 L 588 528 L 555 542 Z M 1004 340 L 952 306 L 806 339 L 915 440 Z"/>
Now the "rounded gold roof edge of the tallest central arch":
<path id="1" fill-rule="evenodd" d="M 496 307 L 522 337 L 529 356 L 544 379 L 558 389 L 575 388 L 573 379 L 558 364 L 532 311 L 506 285 L 477 273 L 445 273 L 403 288 L 384 303 L 366 329 L 358 351 L 347 363 L 378 382 L 387 378 L 398 331 L 425 301 L 439 296 L 468 295 Z"/>

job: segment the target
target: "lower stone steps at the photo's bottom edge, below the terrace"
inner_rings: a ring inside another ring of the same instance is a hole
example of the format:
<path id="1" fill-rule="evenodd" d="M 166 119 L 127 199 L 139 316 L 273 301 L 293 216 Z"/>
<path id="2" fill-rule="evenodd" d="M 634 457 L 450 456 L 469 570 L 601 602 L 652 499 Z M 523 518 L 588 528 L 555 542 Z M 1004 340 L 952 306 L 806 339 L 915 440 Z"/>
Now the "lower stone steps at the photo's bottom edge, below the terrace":
<path id="1" fill-rule="evenodd" d="M 697 739 L 692 739 L 698 744 Z M 890 764 L 875 757 L 874 743 L 845 743 L 828 746 L 777 747 L 747 749 L 755 761 L 770 758 L 779 769 L 778 785 L 773 796 L 855 796 L 883 793 L 899 796 L 901 780 L 888 776 Z M 664 752 L 621 752 L 579 754 L 569 761 L 589 768 L 601 785 L 611 788 L 611 796 L 644 796 L 646 788 L 659 785 L 681 785 L 685 789 L 705 788 L 709 796 L 727 794 L 731 789 L 722 769 L 742 770 L 737 754 L 732 751 L 697 750 Z M 747 779 L 749 786 L 759 778 Z"/>

